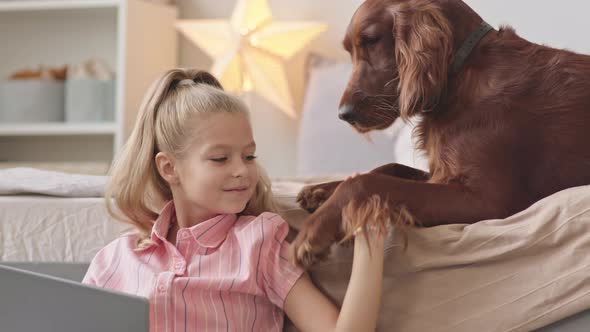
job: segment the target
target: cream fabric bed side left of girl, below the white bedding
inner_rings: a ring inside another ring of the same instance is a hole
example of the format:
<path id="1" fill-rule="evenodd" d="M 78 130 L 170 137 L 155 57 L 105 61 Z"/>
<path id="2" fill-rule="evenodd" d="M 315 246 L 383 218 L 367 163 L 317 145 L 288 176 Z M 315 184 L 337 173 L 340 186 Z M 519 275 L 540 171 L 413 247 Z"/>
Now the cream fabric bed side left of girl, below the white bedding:
<path id="1" fill-rule="evenodd" d="M 0 196 L 0 261 L 89 262 L 128 230 L 104 198 Z"/>

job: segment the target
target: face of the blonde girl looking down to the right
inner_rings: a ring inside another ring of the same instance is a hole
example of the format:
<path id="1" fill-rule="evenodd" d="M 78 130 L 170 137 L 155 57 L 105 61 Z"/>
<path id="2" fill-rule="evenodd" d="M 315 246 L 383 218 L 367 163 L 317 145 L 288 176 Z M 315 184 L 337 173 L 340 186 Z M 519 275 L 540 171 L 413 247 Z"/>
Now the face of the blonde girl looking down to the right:
<path id="1" fill-rule="evenodd" d="M 196 140 L 176 165 L 181 199 L 195 216 L 239 213 L 252 197 L 258 171 L 256 144 L 245 113 L 198 116 Z"/>

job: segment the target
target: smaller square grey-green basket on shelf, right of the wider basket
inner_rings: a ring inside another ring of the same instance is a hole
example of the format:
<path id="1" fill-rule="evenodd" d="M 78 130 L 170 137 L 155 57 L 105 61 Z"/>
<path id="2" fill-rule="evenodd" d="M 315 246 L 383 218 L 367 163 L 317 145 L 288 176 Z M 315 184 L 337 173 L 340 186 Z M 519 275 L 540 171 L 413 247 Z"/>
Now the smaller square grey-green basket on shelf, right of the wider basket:
<path id="1" fill-rule="evenodd" d="M 115 81 L 69 79 L 65 87 L 66 122 L 112 122 Z"/>

